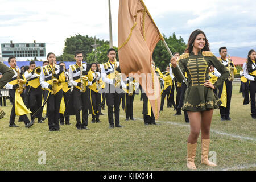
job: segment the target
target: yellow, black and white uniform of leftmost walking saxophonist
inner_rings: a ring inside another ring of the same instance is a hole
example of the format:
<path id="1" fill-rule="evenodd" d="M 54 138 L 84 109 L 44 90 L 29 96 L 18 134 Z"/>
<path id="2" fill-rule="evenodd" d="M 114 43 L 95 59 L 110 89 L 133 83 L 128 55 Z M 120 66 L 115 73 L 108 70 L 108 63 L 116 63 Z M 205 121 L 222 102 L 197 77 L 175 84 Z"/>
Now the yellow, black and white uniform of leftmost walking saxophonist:
<path id="1" fill-rule="evenodd" d="M 32 122 L 30 122 L 26 114 L 31 113 L 31 111 L 27 109 L 27 107 L 25 106 L 22 100 L 21 94 L 18 93 L 18 78 L 17 78 L 16 69 L 11 67 L 10 69 L 14 72 L 14 76 L 11 78 L 10 82 L 5 85 L 5 88 L 9 89 L 10 101 L 13 104 L 13 107 L 11 108 L 9 126 L 17 127 L 14 122 L 15 122 L 16 115 L 19 115 L 20 120 L 24 121 L 27 127 L 28 125 L 31 125 Z M 19 69 L 19 72 L 20 72 L 20 69 Z M 20 79 L 23 79 L 24 82 L 26 82 L 26 78 L 24 77 L 24 75 L 20 75 Z"/>

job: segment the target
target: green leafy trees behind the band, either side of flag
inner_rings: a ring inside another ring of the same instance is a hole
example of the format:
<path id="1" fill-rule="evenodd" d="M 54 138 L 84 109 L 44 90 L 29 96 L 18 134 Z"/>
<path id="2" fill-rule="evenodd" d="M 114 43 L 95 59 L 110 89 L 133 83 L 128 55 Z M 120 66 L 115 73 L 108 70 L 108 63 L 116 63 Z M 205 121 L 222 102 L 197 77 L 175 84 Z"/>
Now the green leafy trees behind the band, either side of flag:
<path id="1" fill-rule="evenodd" d="M 179 52 L 180 54 L 184 52 L 187 47 L 183 38 L 177 39 L 175 33 L 172 36 L 167 38 L 163 35 L 166 43 L 170 47 L 172 53 Z M 98 44 L 97 48 L 94 49 L 93 44 Z M 117 51 L 117 47 L 113 47 Z M 88 35 L 82 36 L 77 34 L 75 36 L 70 36 L 65 40 L 65 47 L 63 49 L 63 54 L 56 57 L 56 61 L 75 61 L 74 52 L 80 50 L 84 53 L 84 60 L 87 63 L 104 63 L 108 60 L 107 51 L 109 49 L 108 40 L 100 40 Z M 96 51 L 96 53 L 95 53 Z M 154 53 L 152 55 L 155 65 L 160 68 L 161 71 L 166 70 L 166 66 L 170 63 L 170 55 L 164 48 L 162 41 L 156 45 Z M 97 60 L 96 60 L 97 59 Z M 117 51 L 117 60 L 118 60 L 118 51 Z"/>

